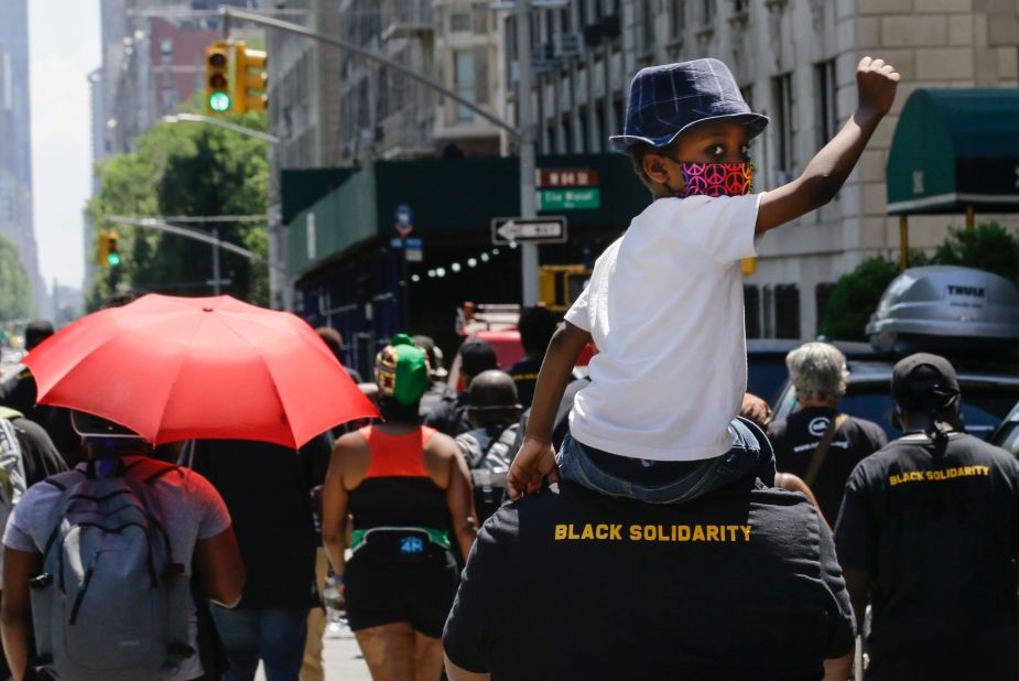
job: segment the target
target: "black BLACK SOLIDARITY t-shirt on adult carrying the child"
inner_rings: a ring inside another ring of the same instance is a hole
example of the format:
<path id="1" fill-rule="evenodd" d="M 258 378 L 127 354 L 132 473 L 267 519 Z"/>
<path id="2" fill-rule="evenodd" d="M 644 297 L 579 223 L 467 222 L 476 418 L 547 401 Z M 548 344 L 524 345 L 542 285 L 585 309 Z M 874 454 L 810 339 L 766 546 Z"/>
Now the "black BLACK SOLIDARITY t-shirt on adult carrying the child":
<path id="1" fill-rule="evenodd" d="M 496 681 L 796 681 L 821 679 L 853 631 L 802 495 L 742 483 L 650 505 L 563 482 L 485 523 L 443 642 Z"/>

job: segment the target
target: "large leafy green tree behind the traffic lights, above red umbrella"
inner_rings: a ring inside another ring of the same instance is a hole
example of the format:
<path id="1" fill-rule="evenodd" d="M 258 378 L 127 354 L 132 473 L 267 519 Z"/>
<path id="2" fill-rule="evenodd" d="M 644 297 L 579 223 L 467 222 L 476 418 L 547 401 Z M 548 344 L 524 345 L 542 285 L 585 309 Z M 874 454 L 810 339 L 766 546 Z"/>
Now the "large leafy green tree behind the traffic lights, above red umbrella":
<path id="1" fill-rule="evenodd" d="M 194 107 L 192 107 L 194 108 Z M 263 130 L 263 114 L 229 118 Z M 135 151 L 101 161 L 96 169 L 99 193 L 88 213 L 97 228 L 107 215 L 223 216 L 264 215 L 269 187 L 265 142 L 203 123 L 161 122 L 135 141 Z M 224 241 L 265 256 L 265 223 L 187 225 L 208 231 L 215 227 Z M 163 292 L 212 294 L 213 247 L 177 235 L 117 225 L 121 264 L 101 267 L 88 293 L 89 310 L 115 293 Z M 256 304 L 269 302 L 264 264 L 220 249 L 220 287 Z"/>

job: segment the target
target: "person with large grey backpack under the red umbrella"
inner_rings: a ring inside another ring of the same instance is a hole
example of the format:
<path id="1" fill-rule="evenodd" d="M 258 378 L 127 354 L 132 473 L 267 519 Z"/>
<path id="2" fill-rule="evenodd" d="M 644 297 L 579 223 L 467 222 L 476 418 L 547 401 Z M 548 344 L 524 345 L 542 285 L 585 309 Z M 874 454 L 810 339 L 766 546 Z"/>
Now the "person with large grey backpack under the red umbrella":
<path id="1" fill-rule="evenodd" d="M 205 679 L 192 572 L 227 607 L 245 582 L 223 499 L 200 475 L 151 458 L 137 433 L 80 412 L 72 424 L 88 461 L 29 488 L 3 536 L 13 678 Z"/>

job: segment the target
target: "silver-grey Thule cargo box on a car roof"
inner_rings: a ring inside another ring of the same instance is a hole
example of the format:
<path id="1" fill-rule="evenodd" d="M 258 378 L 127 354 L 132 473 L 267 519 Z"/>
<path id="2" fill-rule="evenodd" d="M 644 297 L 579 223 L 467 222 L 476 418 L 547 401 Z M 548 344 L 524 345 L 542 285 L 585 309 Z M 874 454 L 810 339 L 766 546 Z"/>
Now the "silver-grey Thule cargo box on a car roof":
<path id="1" fill-rule="evenodd" d="M 1019 290 L 964 267 L 918 267 L 897 277 L 867 324 L 879 352 L 1008 350 L 1019 342 Z"/>

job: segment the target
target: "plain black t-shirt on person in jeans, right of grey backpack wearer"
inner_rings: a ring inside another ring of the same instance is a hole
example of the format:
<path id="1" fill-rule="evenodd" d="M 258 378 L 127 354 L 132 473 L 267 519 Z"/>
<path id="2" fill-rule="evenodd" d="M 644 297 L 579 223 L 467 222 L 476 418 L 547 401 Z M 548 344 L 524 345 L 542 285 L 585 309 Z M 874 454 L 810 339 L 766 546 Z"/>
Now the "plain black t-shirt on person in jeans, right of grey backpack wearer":
<path id="1" fill-rule="evenodd" d="M 195 471 L 223 496 L 245 561 L 241 608 L 318 605 L 315 551 L 319 545 L 312 489 L 323 484 L 332 436 L 300 452 L 265 442 L 202 440 Z"/>

